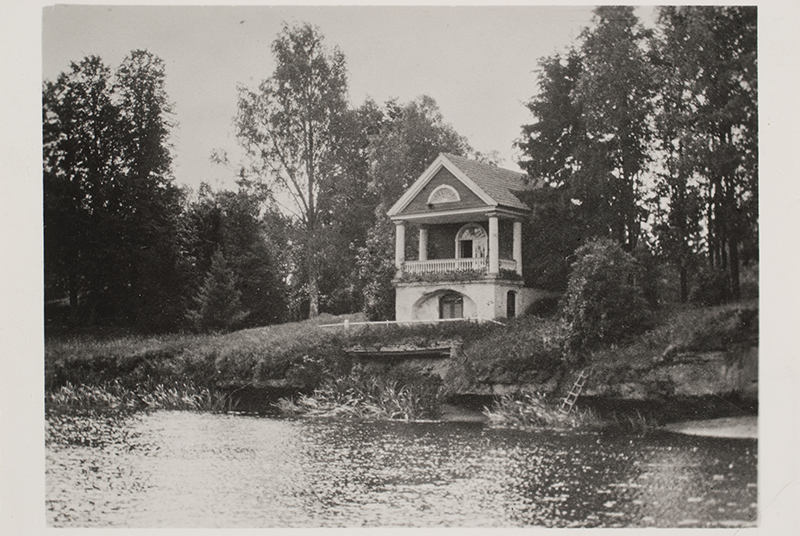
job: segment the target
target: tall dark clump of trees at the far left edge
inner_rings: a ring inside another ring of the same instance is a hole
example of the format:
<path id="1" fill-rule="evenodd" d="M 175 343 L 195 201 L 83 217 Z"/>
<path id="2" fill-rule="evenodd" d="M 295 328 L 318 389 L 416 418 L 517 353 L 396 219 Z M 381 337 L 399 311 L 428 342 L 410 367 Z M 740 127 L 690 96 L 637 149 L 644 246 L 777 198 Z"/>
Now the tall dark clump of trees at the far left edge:
<path id="1" fill-rule="evenodd" d="M 174 242 L 164 65 L 134 51 L 112 74 L 96 56 L 45 82 L 45 283 L 91 322 L 174 328 L 183 266 Z"/>

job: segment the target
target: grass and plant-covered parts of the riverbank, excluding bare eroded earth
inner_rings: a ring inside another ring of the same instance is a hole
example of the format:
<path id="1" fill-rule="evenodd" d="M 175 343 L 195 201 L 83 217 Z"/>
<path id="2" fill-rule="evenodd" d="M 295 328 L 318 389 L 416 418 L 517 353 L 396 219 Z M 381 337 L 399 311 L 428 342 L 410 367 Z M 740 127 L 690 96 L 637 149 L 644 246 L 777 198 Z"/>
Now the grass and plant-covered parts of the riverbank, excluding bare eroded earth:
<path id="1" fill-rule="evenodd" d="M 755 300 L 709 308 L 674 306 L 659 315 L 656 327 L 641 336 L 568 360 L 561 324 L 536 317 L 504 325 L 374 325 L 346 333 L 320 325 L 359 320 L 357 316 L 322 316 L 224 335 L 49 336 L 47 404 L 213 411 L 230 408 L 231 393 L 247 386 L 279 385 L 279 396 L 284 397 L 279 407 L 288 413 L 436 418 L 438 405 L 459 392 L 547 382 L 561 389 L 573 369 L 587 363 L 594 365 L 592 381 L 635 380 L 686 352 L 757 344 Z M 349 346 L 426 345 L 454 339 L 461 341 L 463 352 L 445 377 L 413 363 L 368 371 L 345 352 Z M 489 417 L 498 424 L 553 425 L 548 420 L 557 394 L 551 392 L 546 400 L 532 395 L 499 399 Z M 278 395 L 264 400 L 263 406 L 277 399 Z M 583 424 L 593 420 L 584 417 L 577 418 Z"/>

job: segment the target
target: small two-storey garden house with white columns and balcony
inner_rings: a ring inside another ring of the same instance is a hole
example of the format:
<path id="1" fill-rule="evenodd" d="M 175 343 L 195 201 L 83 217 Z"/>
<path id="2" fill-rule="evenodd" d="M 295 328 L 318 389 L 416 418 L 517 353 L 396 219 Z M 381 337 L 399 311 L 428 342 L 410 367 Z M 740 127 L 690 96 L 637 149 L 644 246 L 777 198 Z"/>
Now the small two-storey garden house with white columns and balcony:
<path id="1" fill-rule="evenodd" d="M 515 192 L 526 175 L 440 154 L 389 210 L 395 223 L 396 319 L 513 318 L 538 294 L 522 278 Z M 406 238 L 418 235 L 409 240 Z M 416 247 L 415 247 L 416 246 Z"/>

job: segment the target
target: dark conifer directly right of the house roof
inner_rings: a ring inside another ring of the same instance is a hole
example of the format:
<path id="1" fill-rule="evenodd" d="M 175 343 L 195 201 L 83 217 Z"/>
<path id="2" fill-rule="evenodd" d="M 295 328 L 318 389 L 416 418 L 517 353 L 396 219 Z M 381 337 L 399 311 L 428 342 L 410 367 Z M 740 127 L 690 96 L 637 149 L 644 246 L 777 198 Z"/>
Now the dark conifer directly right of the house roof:
<path id="1" fill-rule="evenodd" d="M 603 183 L 585 163 L 590 141 L 583 106 L 575 99 L 583 62 L 577 50 L 539 60 L 539 91 L 527 104 L 535 122 L 515 145 L 519 162 L 542 187 L 520 195 L 533 213 L 524 223 L 523 269 L 529 285 L 567 286 L 572 253 L 586 239 L 609 236 Z"/>

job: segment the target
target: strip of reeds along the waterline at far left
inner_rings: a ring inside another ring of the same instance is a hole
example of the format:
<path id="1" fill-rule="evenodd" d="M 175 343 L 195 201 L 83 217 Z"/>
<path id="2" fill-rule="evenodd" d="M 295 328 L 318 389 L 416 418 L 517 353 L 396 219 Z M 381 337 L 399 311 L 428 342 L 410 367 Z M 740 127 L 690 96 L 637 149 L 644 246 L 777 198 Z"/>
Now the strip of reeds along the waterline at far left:
<path id="1" fill-rule="evenodd" d="M 80 409 L 180 409 L 195 411 L 222 411 L 226 397 L 223 393 L 192 384 L 158 384 L 152 387 L 130 389 L 118 380 L 100 385 L 73 385 L 67 382 L 56 391 L 48 393 L 45 404 L 50 408 Z"/>

